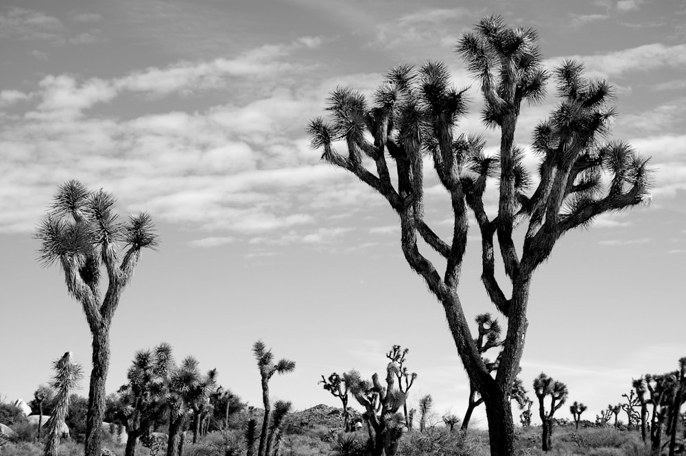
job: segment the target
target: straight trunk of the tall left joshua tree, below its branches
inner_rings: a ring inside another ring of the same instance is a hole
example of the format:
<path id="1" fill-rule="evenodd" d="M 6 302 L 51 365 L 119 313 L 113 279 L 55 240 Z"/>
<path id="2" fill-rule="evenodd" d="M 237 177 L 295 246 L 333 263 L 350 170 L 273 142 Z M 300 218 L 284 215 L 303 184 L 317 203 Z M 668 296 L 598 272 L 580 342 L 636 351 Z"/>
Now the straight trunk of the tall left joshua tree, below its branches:
<path id="1" fill-rule="evenodd" d="M 88 391 L 86 413 L 85 456 L 100 456 L 102 449 L 102 421 L 105 416 L 105 381 L 110 365 L 110 332 L 104 323 L 91 326 L 93 335 L 93 370 Z"/>

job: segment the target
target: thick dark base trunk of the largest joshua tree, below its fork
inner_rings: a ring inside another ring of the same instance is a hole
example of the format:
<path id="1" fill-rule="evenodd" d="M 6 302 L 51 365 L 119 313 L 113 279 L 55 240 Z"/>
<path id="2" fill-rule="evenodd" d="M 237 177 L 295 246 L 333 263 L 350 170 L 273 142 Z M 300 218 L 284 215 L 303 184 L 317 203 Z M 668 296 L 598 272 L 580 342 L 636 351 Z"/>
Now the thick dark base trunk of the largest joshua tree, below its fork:
<path id="1" fill-rule="evenodd" d="M 486 404 L 491 456 L 514 455 L 514 424 L 510 400 L 497 390 L 482 397 Z"/>

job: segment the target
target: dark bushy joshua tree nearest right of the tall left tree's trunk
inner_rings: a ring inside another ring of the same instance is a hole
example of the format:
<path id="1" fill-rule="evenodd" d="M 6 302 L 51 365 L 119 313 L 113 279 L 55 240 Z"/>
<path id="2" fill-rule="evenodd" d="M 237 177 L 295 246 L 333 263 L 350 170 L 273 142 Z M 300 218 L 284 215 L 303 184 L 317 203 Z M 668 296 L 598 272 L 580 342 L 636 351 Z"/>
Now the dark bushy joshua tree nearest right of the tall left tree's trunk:
<path id="1" fill-rule="evenodd" d="M 154 350 L 139 350 L 126 378 L 119 388 L 119 407 L 116 417 L 126 429 L 125 456 L 136 453 L 139 438 L 155 420 L 162 418 L 169 394 L 169 373 L 174 368 L 171 346 L 165 342 Z"/>

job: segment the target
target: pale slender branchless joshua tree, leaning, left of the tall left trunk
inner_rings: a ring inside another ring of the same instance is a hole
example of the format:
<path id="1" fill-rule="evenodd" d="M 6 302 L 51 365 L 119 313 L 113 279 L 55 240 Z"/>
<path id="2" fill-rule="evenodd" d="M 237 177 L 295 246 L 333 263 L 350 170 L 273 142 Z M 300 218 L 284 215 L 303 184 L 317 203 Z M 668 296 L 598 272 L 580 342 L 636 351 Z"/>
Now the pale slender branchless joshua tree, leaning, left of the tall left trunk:
<path id="1" fill-rule="evenodd" d="M 81 365 L 75 363 L 71 352 L 66 352 L 60 359 L 57 359 L 53 363 L 53 369 L 55 376 L 50 382 L 50 387 L 56 392 L 56 397 L 52 415 L 47 420 L 45 456 L 57 456 L 64 420 L 67 419 L 67 413 L 69 413 L 71 393 L 78 387 L 79 381 L 83 378 Z"/>

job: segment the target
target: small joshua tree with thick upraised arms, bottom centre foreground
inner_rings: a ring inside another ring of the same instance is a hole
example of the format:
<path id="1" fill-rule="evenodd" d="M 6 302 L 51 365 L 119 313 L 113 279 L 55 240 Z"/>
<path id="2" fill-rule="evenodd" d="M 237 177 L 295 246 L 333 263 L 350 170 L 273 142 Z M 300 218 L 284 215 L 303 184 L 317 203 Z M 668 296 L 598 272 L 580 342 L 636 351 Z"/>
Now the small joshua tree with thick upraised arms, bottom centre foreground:
<path id="1" fill-rule="evenodd" d="M 350 392 L 365 409 L 363 418 L 367 422 L 372 456 L 381 456 L 384 451 L 386 456 L 395 455 L 403 435 L 403 416 L 397 412 L 405 403 L 407 391 L 401 392 L 396 387 L 397 372 L 397 363 L 388 363 L 385 387 L 379 381 L 379 374 L 373 374 L 372 381 L 363 380 L 356 370 L 344 374 Z"/>

